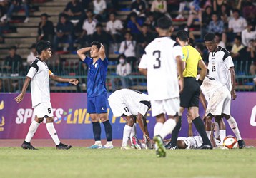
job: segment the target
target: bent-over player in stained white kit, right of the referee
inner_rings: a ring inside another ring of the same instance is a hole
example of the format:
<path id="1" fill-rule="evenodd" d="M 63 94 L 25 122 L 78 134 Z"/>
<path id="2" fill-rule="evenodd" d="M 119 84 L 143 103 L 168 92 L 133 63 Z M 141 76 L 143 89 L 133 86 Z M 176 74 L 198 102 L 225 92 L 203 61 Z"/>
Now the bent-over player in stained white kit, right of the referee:
<path id="1" fill-rule="evenodd" d="M 245 147 L 245 142 L 242 140 L 239 129 L 237 127 L 237 122 L 235 122 L 235 119 L 232 116 L 230 116 L 231 95 L 230 91 L 227 90 L 227 87 L 219 81 L 207 75 L 205 77 L 205 80 L 202 82 L 201 91 L 202 93 L 200 95 L 200 101 L 203 105 L 203 108 L 205 108 L 205 130 L 207 132 L 207 136 L 210 138 L 212 117 L 215 117 L 215 121 L 217 123 L 220 123 L 222 117 L 225 117 L 232 131 L 237 137 L 239 148 L 241 149 Z M 208 101 L 207 108 L 206 100 Z M 221 144 L 223 143 L 223 139 L 225 137 L 226 132 L 221 128 Z"/>

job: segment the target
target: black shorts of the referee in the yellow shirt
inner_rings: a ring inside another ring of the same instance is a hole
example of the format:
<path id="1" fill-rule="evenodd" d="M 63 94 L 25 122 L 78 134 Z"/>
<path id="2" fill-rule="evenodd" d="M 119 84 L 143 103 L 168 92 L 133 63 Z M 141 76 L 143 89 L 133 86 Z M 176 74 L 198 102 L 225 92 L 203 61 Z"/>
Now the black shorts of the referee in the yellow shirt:
<path id="1" fill-rule="evenodd" d="M 184 88 L 180 94 L 180 106 L 189 108 L 199 106 L 200 85 L 192 77 L 184 78 Z"/>

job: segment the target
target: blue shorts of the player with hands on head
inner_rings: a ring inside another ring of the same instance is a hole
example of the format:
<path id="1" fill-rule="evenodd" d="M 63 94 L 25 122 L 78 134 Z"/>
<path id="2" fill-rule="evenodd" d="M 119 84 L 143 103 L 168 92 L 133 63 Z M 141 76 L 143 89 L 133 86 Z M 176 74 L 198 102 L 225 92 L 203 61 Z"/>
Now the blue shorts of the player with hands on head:
<path id="1" fill-rule="evenodd" d="M 107 113 L 107 93 L 87 98 L 87 112 L 89 114 Z"/>

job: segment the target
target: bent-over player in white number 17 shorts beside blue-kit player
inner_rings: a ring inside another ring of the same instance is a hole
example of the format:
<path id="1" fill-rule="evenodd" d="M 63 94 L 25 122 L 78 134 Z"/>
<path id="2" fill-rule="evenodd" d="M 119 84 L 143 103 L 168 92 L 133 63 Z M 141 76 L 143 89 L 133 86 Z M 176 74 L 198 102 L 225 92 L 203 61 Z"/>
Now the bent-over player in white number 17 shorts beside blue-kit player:
<path id="1" fill-rule="evenodd" d="M 134 117 L 137 117 L 139 127 L 143 132 L 144 141 L 147 148 L 150 148 L 149 132 L 147 130 L 147 111 L 151 108 L 149 96 L 137 90 L 122 89 L 116 90 L 109 95 L 109 106 L 114 117 L 124 117 L 127 124 L 124 126 L 122 149 L 127 147 L 129 137 L 132 145 L 141 149 L 136 137 Z"/>

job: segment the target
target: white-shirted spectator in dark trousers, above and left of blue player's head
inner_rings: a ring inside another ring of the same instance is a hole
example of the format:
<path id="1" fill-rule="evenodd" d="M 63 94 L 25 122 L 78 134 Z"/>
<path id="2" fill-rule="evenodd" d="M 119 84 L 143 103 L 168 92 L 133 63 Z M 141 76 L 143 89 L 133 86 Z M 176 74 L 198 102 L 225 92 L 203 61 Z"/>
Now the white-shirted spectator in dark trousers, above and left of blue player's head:
<path id="1" fill-rule="evenodd" d="M 91 9 L 87 10 L 87 19 L 84 20 L 82 33 L 77 39 L 81 46 L 88 46 L 92 42 L 92 34 L 96 31 L 97 19 L 94 19 Z"/>

